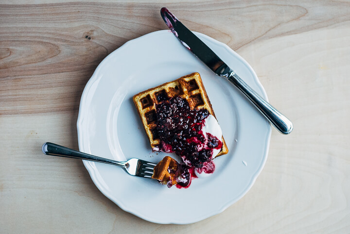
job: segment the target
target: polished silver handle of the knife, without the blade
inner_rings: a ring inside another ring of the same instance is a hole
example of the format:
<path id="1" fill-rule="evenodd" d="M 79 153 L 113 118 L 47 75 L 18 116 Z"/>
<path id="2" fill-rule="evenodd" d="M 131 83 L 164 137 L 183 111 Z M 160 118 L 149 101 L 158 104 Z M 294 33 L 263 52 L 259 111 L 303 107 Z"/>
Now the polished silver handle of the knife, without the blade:
<path id="1" fill-rule="evenodd" d="M 245 96 L 259 109 L 269 122 L 282 134 L 290 134 L 293 130 L 293 123 L 278 110 L 263 100 L 248 84 L 246 84 L 234 71 L 225 76 L 229 82 L 241 90 Z"/>

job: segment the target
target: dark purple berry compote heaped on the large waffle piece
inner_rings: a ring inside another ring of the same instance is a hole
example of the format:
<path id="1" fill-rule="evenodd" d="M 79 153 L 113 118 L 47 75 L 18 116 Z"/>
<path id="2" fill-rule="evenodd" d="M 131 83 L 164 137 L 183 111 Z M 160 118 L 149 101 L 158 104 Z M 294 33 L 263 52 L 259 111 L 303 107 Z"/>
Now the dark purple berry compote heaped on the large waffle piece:
<path id="1" fill-rule="evenodd" d="M 199 173 L 214 172 L 213 150 L 220 150 L 222 142 L 202 131 L 209 115 L 206 109 L 191 110 L 188 101 L 179 96 L 157 104 L 155 130 L 160 139 L 159 150 L 175 152 Z"/>

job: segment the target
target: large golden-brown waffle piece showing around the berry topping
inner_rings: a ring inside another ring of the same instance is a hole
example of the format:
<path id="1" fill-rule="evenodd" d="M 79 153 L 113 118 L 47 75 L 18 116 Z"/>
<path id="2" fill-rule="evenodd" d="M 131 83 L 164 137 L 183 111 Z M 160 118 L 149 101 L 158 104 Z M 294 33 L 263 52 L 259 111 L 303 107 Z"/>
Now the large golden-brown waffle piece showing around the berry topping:
<path id="1" fill-rule="evenodd" d="M 205 108 L 215 117 L 202 79 L 197 72 L 140 92 L 133 97 L 133 100 L 152 148 L 157 147 L 160 142 L 155 131 L 156 104 L 176 96 L 186 99 L 191 109 Z M 216 157 L 228 152 L 224 137 L 222 142 L 223 147 Z"/>

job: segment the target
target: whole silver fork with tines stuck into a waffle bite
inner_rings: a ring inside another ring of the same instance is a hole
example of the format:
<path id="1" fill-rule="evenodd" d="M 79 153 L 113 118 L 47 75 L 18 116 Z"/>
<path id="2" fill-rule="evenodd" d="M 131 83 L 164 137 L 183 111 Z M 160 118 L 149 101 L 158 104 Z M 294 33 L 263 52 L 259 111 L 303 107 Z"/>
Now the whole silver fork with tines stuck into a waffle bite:
<path id="1" fill-rule="evenodd" d="M 44 143 L 41 149 L 46 155 L 84 159 L 123 167 L 124 170 L 130 175 L 144 178 L 151 178 L 153 175 L 153 169 L 156 166 L 154 163 L 147 162 L 138 158 L 131 158 L 126 162 L 114 161 L 111 159 L 101 158 L 91 154 L 72 150 L 64 146 L 53 144 L 51 142 Z"/>

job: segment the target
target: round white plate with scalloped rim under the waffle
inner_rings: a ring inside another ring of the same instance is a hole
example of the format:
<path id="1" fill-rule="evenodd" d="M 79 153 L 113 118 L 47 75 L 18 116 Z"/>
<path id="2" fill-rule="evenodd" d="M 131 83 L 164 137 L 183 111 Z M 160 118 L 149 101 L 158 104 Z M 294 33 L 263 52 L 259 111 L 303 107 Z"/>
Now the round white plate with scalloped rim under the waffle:
<path id="1" fill-rule="evenodd" d="M 267 100 L 253 69 L 227 45 L 195 33 Z M 152 153 L 132 96 L 199 72 L 223 130 L 228 154 L 214 160 L 215 172 L 187 189 L 130 176 L 123 169 L 84 161 L 92 181 L 123 210 L 155 223 L 193 223 L 224 211 L 253 185 L 267 159 L 271 127 L 245 97 L 217 77 L 168 30 L 125 43 L 108 55 L 86 85 L 79 109 L 78 141 L 83 152 L 124 161 L 159 162 Z M 165 212 L 165 213 L 164 213 Z"/>

